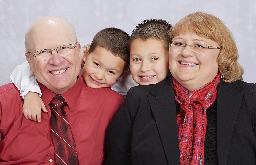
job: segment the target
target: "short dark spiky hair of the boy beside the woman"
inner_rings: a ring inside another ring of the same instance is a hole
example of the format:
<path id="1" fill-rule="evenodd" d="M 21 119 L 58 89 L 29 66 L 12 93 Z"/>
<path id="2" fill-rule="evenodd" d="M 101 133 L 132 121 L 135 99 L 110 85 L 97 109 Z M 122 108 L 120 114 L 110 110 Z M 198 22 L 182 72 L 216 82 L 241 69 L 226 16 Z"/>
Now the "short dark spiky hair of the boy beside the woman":
<path id="1" fill-rule="evenodd" d="M 163 19 L 147 19 L 135 26 L 132 35 L 129 39 L 129 46 L 135 39 L 143 41 L 147 39 L 157 39 L 162 42 L 164 48 L 169 50 L 169 35 L 168 30 L 171 24 Z"/>

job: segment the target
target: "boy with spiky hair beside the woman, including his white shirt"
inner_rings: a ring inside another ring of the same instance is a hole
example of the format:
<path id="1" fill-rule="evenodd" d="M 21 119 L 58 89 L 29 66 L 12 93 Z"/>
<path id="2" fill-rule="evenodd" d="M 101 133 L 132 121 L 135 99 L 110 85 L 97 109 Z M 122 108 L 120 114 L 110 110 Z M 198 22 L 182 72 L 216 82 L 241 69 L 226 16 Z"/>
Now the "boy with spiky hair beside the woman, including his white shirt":
<path id="1" fill-rule="evenodd" d="M 129 39 L 131 72 L 125 73 L 112 89 L 126 96 L 132 86 L 158 83 L 168 76 L 170 27 L 162 19 L 144 20 L 135 27 Z"/>

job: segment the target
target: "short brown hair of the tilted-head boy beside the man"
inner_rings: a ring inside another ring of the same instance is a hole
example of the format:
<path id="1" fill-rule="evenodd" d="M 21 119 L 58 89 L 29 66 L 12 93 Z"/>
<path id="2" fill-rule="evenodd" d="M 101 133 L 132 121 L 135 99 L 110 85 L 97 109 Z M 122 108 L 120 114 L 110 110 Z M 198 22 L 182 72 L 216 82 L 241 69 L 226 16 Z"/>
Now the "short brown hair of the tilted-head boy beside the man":
<path id="1" fill-rule="evenodd" d="M 114 56 L 124 60 L 126 69 L 130 65 L 130 53 L 128 49 L 128 41 L 130 35 L 121 29 L 109 27 L 100 30 L 93 38 L 89 48 L 89 54 L 96 47 L 103 47 L 110 51 Z"/>

